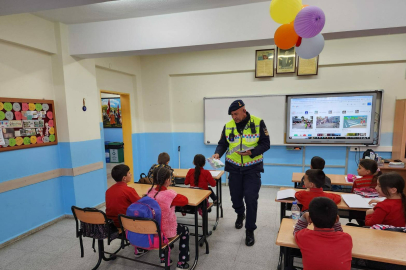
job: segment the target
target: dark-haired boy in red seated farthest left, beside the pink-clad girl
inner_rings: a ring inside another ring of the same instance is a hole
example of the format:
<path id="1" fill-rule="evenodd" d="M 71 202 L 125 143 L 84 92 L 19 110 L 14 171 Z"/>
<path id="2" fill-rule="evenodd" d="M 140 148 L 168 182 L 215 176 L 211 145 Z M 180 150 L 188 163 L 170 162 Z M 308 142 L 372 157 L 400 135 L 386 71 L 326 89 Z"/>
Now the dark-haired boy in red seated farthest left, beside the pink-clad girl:
<path id="1" fill-rule="evenodd" d="M 117 228 L 120 228 L 118 215 L 125 215 L 128 206 L 138 201 L 140 196 L 135 189 L 127 186 L 127 183 L 131 181 L 130 167 L 124 164 L 114 166 L 111 176 L 117 183 L 106 191 L 106 216 L 113 220 Z M 141 257 L 147 252 L 148 250 L 137 248 L 134 254 L 135 257 Z"/>

